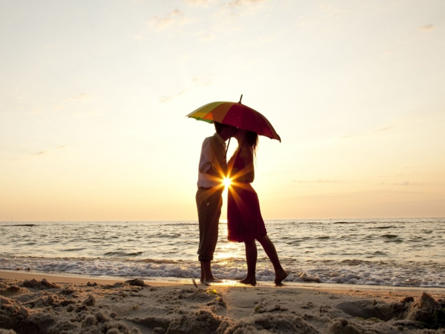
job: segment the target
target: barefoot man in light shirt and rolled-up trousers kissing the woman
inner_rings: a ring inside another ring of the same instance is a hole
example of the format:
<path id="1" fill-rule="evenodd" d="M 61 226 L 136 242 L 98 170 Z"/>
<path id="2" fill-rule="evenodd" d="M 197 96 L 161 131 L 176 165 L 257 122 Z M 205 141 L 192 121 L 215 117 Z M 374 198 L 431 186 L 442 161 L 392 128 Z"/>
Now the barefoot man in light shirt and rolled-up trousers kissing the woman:
<path id="1" fill-rule="evenodd" d="M 218 283 L 213 277 L 211 264 L 218 241 L 218 224 L 223 206 L 223 178 L 227 175 L 225 141 L 232 136 L 234 127 L 215 122 L 216 133 L 204 139 L 197 177 L 196 206 L 200 223 L 200 246 L 197 250 L 201 262 L 201 282 Z"/>

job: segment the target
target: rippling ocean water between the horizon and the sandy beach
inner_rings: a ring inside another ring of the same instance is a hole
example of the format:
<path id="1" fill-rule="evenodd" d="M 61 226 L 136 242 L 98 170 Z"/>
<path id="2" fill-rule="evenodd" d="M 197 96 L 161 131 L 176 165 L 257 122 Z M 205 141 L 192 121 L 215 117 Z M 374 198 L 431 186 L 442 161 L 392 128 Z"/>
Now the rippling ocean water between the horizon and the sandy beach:
<path id="1" fill-rule="evenodd" d="M 288 282 L 445 287 L 445 218 L 269 220 Z M 200 277 L 197 221 L 0 222 L 0 270 L 171 282 Z M 258 245 L 257 280 L 274 271 Z M 245 277 L 220 221 L 213 275 Z"/>

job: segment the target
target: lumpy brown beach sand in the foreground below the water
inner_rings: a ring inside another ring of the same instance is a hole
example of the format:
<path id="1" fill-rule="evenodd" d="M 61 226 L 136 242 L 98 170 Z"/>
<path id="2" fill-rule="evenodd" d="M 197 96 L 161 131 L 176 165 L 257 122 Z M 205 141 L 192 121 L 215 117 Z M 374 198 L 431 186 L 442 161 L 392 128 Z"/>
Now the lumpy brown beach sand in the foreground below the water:
<path id="1" fill-rule="evenodd" d="M 3 333 L 445 333 L 445 291 L 0 271 Z"/>

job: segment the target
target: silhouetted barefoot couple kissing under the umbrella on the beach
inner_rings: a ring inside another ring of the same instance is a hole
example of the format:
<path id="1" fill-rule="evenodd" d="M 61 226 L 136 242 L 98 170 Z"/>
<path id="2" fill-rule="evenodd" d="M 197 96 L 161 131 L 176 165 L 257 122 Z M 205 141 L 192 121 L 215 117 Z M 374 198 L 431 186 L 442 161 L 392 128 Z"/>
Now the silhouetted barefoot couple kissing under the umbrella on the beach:
<path id="1" fill-rule="evenodd" d="M 232 179 L 227 200 L 227 228 L 229 241 L 244 242 L 248 264 L 247 277 L 239 281 L 256 285 L 257 244 L 259 241 L 275 269 L 275 284 L 282 285 L 287 277 L 280 264 L 277 250 L 267 236 L 259 209 L 257 193 L 250 184 L 254 180 L 254 154 L 258 134 L 215 122 L 216 133 L 202 143 L 197 180 L 196 205 L 200 226 L 200 246 L 197 254 L 201 262 L 201 282 L 218 283 L 213 277 L 211 261 L 218 241 L 218 223 L 223 205 L 223 178 Z M 225 141 L 236 138 L 238 148 L 227 164 Z"/>

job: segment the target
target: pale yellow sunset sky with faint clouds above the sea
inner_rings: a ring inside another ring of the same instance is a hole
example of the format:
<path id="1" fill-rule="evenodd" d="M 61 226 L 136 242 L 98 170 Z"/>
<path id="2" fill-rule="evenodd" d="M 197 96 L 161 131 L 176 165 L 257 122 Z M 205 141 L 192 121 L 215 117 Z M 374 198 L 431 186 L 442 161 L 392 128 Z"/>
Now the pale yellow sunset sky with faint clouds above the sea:
<path id="1" fill-rule="evenodd" d="M 197 220 L 214 128 L 185 116 L 241 94 L 282 138 L 257 151 L 265 219 L 444 217 L 444 14 L 443 0 L 0 0 L 0 221 Z"/>

